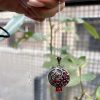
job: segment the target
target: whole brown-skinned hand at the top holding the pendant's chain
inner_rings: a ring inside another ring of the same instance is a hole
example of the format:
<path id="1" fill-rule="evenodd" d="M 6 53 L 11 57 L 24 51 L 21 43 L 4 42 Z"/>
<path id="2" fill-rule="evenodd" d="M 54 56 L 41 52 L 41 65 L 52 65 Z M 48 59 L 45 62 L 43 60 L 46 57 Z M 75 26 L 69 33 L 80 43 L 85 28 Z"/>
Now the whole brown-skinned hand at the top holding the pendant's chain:
<path id="1" fill-rule="evenodd" d="M 24 14 L 37 21 L 54 16 L 58 5 L 58 0 L 0 0 L 0 10 Z M 64 0 L 60 0 L 60 8 L 64 8 Z"/>

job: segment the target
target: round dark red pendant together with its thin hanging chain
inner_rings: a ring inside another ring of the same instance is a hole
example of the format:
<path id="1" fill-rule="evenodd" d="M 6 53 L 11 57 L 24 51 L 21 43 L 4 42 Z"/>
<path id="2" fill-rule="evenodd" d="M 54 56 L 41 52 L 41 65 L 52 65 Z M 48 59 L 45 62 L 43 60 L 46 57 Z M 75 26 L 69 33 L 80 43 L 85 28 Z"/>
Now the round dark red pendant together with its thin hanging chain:
<path id="1" fill-rule="evenodd" d="M 58 28 L 59 35 L 61 34 L 60 18 L 61 18 L 61 4 L 59 1 L 58 20 L 57 20 L 58 21 L 57 28 Z M 59 49 L 58 43 L 57 43 L 57 49 Z M 61 66 L 61 54 L 59 50 L 57 50 L 56 56 L 57 56 L 58 65 L 55 66 L 55 68 L 52 68 L 51 71 L 48 73 L 48 80 L 49 80 L 49 83 L 56 88 L 55 89 L 56 92 L 61 92 L 62 88 L 69 83 L 70 76 L 69 76 L 69 73 L 65 69 L 63 69 Z"/>

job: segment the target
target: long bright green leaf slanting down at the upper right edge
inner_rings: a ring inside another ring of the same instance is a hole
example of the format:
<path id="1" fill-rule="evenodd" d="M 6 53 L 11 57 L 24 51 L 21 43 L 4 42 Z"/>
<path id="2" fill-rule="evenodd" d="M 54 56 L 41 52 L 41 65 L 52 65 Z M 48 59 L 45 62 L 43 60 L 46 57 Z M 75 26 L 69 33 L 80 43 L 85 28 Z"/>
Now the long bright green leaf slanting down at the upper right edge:
<path id="1" fill-rule="evenodd" d="M 94 37 L 95 39 L 100 39 L 99 33 L 96 31 L 96 29 L 92 25 L 90 25 L 86 21 L 84 22 L 83 25 L 92 37 Z"/>

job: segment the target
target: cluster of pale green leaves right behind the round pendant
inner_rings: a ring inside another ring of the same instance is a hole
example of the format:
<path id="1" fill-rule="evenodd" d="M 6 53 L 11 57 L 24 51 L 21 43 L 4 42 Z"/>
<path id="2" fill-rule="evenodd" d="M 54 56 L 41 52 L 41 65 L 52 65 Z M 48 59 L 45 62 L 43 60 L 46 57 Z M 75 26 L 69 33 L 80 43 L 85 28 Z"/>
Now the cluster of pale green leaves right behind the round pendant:
<path id="1" fill-rule="evenodd" d="M 80 76 L 77 74 L 77 71 L 79 70 L 79 68 L 86 67 L 86 57 L 81 56 L 79 58 L 76 58 L 73 55 L 66 53 L 66 55 L 62 55 L 61 65 L 70 73 L 71 80 L 68 86 L 75 86 L 80 84 Z M 56 66 L 56 55 L 46 55 L 46 61 L 44 62 L 43 67 L 52 68 Z M 93 73 L 82 74 L 81 81 L 91 81 L 95 77 L 96 76 Z"/>

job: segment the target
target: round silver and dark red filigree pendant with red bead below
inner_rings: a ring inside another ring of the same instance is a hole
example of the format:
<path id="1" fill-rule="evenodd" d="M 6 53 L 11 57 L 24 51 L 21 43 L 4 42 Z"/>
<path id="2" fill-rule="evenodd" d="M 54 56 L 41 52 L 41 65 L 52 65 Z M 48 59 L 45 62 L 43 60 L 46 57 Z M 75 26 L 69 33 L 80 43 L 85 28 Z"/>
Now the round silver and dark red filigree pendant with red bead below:
<path id="1" fill-rule="evenodd" d="M 62 88 L 70 81 L 69 73 L 60 65 L 61 57 L 57 57 L 58 66 L 52 68 L 48 74 L 49 83 L 56 88 L 56 92 L 61 92 Z"/>

